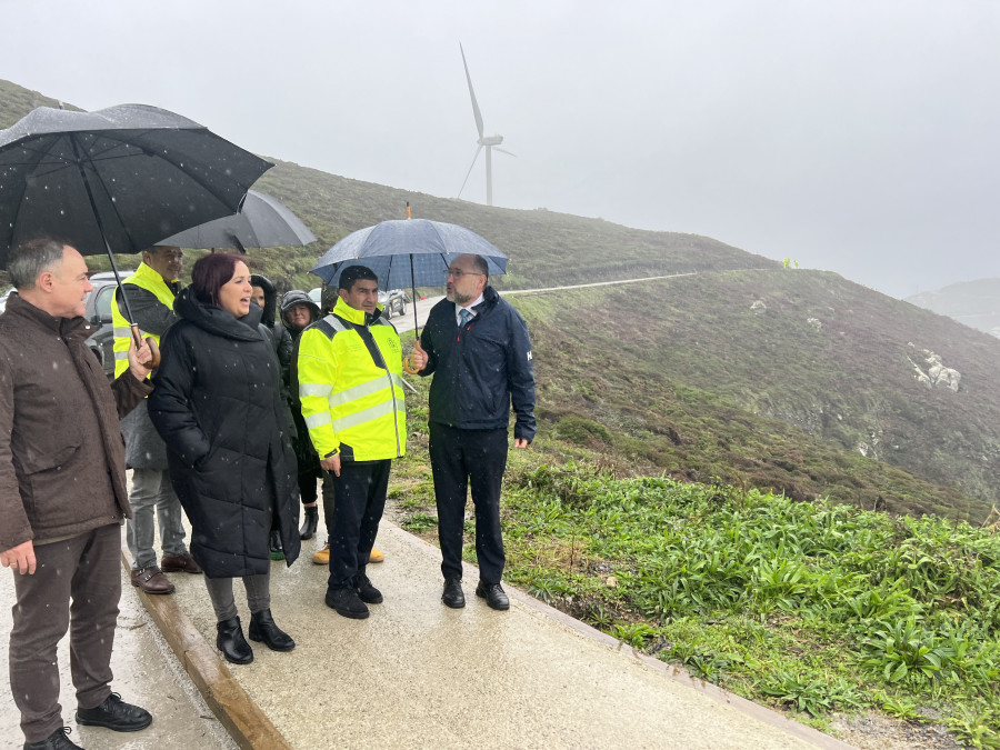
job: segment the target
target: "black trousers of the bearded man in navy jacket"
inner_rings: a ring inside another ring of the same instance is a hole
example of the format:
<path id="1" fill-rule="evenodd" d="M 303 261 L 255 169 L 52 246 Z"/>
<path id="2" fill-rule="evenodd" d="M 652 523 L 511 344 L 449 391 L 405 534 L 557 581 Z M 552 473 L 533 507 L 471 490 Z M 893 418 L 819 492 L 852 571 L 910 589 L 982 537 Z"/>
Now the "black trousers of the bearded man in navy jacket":
<path id="1" fill-rule="evenodd" d="M 506 429 L 459 430 L 430 423 L 431 472 L 444 578 L 462 577 L 462 531 L 470 486 L 479 578 L 484 583 L 499 583 L 503 577 L 507 558 L 500 533 L 500 482 L 507 468 L 507 441 Z"/>

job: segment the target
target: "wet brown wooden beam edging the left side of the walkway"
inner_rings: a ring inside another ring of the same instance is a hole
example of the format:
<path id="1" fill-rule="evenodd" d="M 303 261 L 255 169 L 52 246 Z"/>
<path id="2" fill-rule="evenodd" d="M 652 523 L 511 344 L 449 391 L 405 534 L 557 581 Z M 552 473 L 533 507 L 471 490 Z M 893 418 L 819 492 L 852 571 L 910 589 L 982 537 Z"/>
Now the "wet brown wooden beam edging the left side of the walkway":
<path id="1" fill-rule="evenodd" d="M 132 568 L 132 558 L 122 549 L 121 563 Z M 172 596 L 150 596 L 137 587 L 139 600 L 160 629 L 188 677 L 212 713 L 243 750 L 292 750 L 271 720 L 247 694 L 226 663 L 178 607 Z"/>

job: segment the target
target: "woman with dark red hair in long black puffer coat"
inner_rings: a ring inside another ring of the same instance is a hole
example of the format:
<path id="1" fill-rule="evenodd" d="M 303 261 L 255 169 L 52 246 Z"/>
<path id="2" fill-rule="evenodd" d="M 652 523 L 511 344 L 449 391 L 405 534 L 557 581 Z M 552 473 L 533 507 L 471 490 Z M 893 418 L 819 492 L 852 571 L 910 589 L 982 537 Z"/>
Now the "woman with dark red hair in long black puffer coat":
<path id="1" fill-rule="evenodd" d="M 149 416 L 167 443 L 170 479 L 191 522 L 191 554 L 204 569 L 218 620 L 217 646 L 249 663 L 232 593 L 242 578 L 250 639 L 276 651 L 294 641 L 271 617 L 268 532 L 299 554 L 294 428 L 280 392 L 274 349 L 250 304 L 250 271 L 238 257 L 206 256 L 174 302 L 180 321 L 161 342 Z"/>

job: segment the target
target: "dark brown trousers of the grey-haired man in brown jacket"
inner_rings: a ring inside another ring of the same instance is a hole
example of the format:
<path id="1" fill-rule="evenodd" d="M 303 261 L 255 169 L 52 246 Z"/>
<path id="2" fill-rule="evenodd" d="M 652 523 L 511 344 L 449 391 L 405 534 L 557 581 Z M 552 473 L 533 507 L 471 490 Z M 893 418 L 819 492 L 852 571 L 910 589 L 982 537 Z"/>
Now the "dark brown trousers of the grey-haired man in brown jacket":
<path id="1" fill-rule="evenodd" d="M 10 691 L 28 742 L 62 727 L 56 647 L 70 631 L 70 673 L 80 708 L 111 694 L 111 647 L 121 598 L 121 527 L 103 526 L 34 548 L 33 576 L 14 573 Z"/>

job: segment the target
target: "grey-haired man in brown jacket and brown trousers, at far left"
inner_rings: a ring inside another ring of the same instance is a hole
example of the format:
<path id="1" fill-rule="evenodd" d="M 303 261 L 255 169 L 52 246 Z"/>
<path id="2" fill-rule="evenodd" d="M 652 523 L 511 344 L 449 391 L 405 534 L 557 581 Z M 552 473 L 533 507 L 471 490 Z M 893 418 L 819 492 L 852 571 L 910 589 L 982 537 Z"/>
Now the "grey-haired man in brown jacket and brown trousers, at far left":
<path id="1" fill-rule="evenodd" d="M 77 722 L 137 731 L 148 711 L 112 693 L 121 523 L 131 517 L 119 419 L 152 387 L 129 351 L 111 388 L 84 343 L 83 257 L 48 238 L 13 248 L 0 316 L 0 563 L 14 576 L 10 688 L 24 748 L 78 748 L 59 704 L 56 647 L 70 630 Z M 72 599 L 72 611 L 70 600 Z"/>

